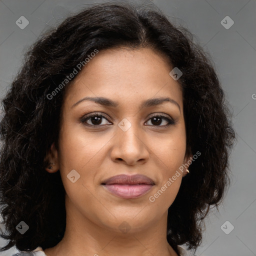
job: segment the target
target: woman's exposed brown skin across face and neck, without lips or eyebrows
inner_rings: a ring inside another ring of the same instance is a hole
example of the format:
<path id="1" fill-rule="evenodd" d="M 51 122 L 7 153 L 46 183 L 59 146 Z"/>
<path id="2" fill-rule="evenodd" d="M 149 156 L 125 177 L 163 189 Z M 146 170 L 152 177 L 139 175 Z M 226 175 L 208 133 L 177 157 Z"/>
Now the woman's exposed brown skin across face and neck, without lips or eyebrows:
<path id="1" fill-rule="evenodd" d="M 61 111 L 59 150 L 52 144 L 47 157 L 54 165 L 46 169 L 61 174 L 66 230 L 58 244 L 44 250 L 46 255 L 177 255 L 166 240 L 167 210 L 185 170 L 154 202 L 148 199 L 191 156 L 185 155 L 182 91 L 169 75 L 172 68 L 164 55 L 150 48 L 101 50 L 69 84 Z M 106 97 L 119 105 L 85 100 L 71 107 L 85 96 Z M 143 100 L 155 97 L 175 100 L 180 110 L 168 101 L 139 109 Z M 94 111 L 107 119 L 102 117 L 96 128 L 92 127 L 95 118 L 80 121 Z M 152 116 L 159 113 L 175 124 L 166 127 L 164 118 L 155 124 Z M 118 126 L 123 118 L 131 124 L 126 131 Z M 80 175 L 74 183 L 67 178 L 72 169 Z M 123 199 L 101 185 L 117 174 L 144 174 L 155 185 L 145 195 Z M 127 232 L 119 229 L 124 221 Z"/>

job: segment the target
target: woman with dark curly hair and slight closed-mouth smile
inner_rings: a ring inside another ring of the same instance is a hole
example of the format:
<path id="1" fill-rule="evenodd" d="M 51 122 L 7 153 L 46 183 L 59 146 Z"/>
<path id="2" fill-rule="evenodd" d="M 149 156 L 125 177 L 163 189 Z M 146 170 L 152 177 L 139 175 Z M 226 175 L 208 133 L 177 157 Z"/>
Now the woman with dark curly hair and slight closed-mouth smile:
<path id="1" fill-rule="evenodd" d="M 1 250 L 193 255 L 235 136 L 186 29 L 134 4 L 85 8 L 34 43 L 3 107 Z"/>

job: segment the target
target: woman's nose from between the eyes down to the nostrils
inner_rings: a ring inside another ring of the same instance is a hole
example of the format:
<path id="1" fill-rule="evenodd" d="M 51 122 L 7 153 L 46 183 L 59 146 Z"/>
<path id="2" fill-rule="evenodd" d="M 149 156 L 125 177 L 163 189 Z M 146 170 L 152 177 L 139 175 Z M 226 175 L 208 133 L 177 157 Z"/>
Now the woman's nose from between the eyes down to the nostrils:
<path id="1" fill-rule="evenodd" d="M 142 130 L 132 124 L 126 131 L 117 127 L 113 138 L 111 160 L 127 165 L 143 164 L 148 160 L 147 141 Z"/>

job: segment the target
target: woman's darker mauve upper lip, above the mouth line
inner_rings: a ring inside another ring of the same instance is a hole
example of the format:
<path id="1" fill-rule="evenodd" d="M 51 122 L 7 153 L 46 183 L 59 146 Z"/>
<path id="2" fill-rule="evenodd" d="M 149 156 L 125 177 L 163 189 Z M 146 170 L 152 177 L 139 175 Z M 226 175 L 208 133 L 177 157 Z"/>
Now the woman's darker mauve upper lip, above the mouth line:
<path id="1" fill-rule="evenodd" d="M 154 185 L 154 182 L 151 178 L 142 175 L 142 174 L 134 174 L 134 175 L 126 175 L 120 174 L 115 175 L 110 178 L 105 179 L 101 184 L 110 185 L 110 184 L 149 184 Z"/>

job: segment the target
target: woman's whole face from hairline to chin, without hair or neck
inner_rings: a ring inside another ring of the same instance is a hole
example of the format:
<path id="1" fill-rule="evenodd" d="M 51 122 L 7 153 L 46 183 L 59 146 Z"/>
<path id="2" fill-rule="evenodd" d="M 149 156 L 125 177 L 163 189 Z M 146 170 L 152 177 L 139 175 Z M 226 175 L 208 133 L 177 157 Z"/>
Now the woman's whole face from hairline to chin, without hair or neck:
<path id="1" fill-rule="evenodd" d="M 185 172 L 172 177 L 187 159 L 182 92 L 171 69 L 149 48 L 102 50 L 66 88 L 55 153 L 73 221 L 119 232 L 166 221 Z M 144 176 L 129 179 L 134 174 Z M 116 175 L 128 177 L 109 180 Z"/>

